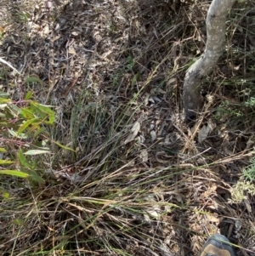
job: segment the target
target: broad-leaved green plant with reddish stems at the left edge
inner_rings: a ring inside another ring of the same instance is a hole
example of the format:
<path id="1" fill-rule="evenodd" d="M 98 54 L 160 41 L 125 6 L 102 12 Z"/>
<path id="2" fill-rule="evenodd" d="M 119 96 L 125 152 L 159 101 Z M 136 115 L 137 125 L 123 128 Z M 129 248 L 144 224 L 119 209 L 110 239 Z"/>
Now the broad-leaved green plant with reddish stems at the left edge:
<path id="1" fill-rule="evenodd" d="M 29 91 L 25 100 L 14 101 L 9 94 L 0 92 L 0 174 L 42 183 L 36 156 L 51 152 L 46 126 L 54 124 L 55 115 L 51 106 L 31 100 L 31 96 Z M 6 165 L 15 169 L 7 169 Z"/>

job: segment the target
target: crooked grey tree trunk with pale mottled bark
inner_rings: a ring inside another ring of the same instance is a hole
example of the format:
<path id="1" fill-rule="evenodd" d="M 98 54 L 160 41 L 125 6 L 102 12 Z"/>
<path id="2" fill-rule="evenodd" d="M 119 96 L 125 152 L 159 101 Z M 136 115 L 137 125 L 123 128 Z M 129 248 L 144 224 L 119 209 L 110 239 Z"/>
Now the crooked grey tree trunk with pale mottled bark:
<path id="1" fill-rule="evenodd" d="M 224 52 L 226 19 L 235 0 L 212 0 L 207 12 L 207 45 L 205 53 L 186 72 L 184 79 L 185 121 L 195 119 L 200 107 L 202 78 L 217 65 Z"/>

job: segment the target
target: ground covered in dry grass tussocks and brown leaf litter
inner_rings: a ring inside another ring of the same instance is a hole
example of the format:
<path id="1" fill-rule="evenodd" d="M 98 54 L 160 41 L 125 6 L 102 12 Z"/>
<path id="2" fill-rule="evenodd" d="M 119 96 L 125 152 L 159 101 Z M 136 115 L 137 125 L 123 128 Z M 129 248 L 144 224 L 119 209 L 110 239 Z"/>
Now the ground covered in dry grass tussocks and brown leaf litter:
<path id="1" fill-rule="evenodd" d="M 217 232 L 254 255 L 254 196 L 231 197 L 254 145 L 253 1 L 229 14 L 193 128 L 182 84 L 209 2 L 0 4 L 0 57 L 21 73 L 1 65 L 1 90 L 54 105 L 48 134 L 74 149 L 50 145 L 43 185 L 1 178 L 1 255 L 198 255 Z"/>

